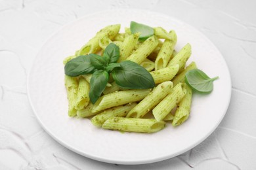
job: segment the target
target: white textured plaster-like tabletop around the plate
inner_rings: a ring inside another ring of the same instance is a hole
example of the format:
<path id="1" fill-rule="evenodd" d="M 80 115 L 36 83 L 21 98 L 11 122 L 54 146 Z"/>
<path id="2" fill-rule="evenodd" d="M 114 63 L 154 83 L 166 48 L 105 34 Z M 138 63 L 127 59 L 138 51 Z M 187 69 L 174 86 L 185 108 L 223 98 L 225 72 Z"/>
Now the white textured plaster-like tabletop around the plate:
<path id="1" fill-rule="evenodd" d="M 0 169 L 256 169 L 256 2 L 0 0 Z M 232 98 L 203 143 L 158 163 L 114 165 L 79 156 L 39 126 L 26 91 L 37 51 L 62 25 L 119 8 L 162 12 L 204 33 L 226 60 Z"/>

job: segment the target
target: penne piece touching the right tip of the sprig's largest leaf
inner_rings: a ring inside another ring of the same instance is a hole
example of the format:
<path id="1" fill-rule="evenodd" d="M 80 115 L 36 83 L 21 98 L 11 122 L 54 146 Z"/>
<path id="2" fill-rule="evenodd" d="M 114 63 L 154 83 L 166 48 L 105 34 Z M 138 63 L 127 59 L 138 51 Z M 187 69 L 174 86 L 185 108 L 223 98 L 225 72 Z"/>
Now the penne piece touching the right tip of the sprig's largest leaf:
<path id="1" fill-rule="evenodd" d="M 179 65 L 171 65 L 164 69 L 151 71 L 150 75 L 154 78 L 156 84 L 171 80 L 179 71 Z"/>

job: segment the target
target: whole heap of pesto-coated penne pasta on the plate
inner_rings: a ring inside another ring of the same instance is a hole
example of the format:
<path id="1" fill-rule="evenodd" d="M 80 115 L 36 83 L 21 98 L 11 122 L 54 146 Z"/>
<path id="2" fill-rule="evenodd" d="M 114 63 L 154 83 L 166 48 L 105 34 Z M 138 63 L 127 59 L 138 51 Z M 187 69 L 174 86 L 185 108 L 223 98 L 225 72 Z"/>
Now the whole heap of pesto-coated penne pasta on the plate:
<path id="1" fill-rule="evenodd" d="M 186 67 L 191 56 L 190 44 L 175 51 L 175 31 L 168 33 L 161 27 L 154 27 L 154 35 L 145 41 L 139 41 L 140 34 L 132 34 L 129 28 L 125 28 L 125 33 L 119 33 L 119 29 L 120 24 L 104 27 L 74 56 L 64 59 L 64 64 L 77 56 L 102 54 L 108 44 L 114 43 L 119 46 L 117 63 L 125 60 L 138 63 L 152 75 L 156 87 L 125 90 L 110 78 L 104 95 L 93 105 L 89 99 L 91 75 L 66 75 L 68 115 L 93 116 L 91 122 L 104 129 L 144 133 L 160 131 L 169 121 L 173 126 L 182 124 L 190 115 L 192 101 L 192 89 L 185 84 L 184 76 L 196 69 L 194 62 Z"/>

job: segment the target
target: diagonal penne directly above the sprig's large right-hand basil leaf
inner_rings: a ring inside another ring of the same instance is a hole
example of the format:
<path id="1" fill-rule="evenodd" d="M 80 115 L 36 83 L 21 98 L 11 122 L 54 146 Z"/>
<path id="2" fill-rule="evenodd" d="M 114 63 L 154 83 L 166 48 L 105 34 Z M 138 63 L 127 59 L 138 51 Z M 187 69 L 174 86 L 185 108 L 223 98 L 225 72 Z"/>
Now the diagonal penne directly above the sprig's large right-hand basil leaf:
<path id="1" fill-rule="evenodd" d="M 150 55 L 156 46 L 158 46 L 158 39 L 155 36 L 149 37 L 126 60 L 131 60 L 140 64 Z"/>

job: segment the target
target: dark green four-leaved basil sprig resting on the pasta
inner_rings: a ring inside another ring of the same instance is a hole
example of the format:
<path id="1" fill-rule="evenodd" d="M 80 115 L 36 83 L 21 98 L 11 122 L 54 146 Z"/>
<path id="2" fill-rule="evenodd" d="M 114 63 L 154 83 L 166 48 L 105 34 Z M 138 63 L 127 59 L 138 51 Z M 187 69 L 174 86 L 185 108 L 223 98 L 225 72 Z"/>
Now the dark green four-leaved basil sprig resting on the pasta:
<path id="1" fill-rule="evenodd" d="M 89 91 L 89 97 L 93 104 L 96 103 L 106 88 L 110 73 L 112 73 L 114 80 L 121 88 L 154 88 L 154 79 L 144 67 L 133 61 L 116 63 L 118 59 L 119 47 L 114 43 L 110 43 L 104 50 L 103 56 L 88 54 L 68 61 L 64 67 L 65 74 L 79 76 L 93 73 Z"/>

